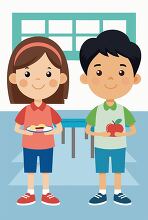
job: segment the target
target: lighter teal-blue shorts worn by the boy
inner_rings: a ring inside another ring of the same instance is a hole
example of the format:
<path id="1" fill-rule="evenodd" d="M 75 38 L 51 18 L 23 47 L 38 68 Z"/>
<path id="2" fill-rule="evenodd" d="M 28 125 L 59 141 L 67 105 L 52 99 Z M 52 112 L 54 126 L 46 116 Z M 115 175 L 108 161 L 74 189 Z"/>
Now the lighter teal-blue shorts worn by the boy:
<path id="1" fill-rule="evenodd" d="M 112 172 L 124 173 L 125 152 L 126 152 L 126 148 L 121 148 L 121 149 L 95 148 L 96 173 L 109 172 L 109 158 L 111 158 L 111 162 L 112 162 Z"/>

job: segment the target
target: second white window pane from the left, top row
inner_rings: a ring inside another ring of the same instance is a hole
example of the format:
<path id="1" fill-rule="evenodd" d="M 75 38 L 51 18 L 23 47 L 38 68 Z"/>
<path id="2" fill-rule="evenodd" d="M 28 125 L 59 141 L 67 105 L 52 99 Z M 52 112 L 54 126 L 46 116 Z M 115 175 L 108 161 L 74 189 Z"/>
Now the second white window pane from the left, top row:
<path id="1" fill-rule="evenodd" d="M 50 20 L 49 33 L 72 34 L 72 20 Z"/>

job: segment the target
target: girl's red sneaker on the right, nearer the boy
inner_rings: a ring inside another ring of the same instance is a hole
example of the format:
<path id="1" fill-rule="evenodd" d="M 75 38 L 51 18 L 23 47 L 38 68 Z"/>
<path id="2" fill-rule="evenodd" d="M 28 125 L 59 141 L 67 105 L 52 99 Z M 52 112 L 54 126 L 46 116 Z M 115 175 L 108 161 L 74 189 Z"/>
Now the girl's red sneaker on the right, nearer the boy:
<path id="1" fill-rule="evenodd" d="M 46 195 L 42 195 L 42 203 L 50 206 L 60 205 L 60 201 L 58 198 L 54 197 L 51 193 L 47 193 Z"/>

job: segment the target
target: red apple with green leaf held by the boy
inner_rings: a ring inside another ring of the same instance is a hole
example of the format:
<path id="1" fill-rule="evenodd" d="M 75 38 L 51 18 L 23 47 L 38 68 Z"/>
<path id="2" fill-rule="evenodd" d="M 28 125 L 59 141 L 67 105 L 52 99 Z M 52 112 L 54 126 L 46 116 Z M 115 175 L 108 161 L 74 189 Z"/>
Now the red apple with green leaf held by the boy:
<path id="1" fill-rule="evenodd" d="M 122 119 L 117 119 L 116 121 L 112 121 L 113 123 L 110 123 L 106 126 L 106 131 L 111 133 L 111 137 L 115 137 L 116 132 L 123 132 L 123 126 L 120 124 Z"/>

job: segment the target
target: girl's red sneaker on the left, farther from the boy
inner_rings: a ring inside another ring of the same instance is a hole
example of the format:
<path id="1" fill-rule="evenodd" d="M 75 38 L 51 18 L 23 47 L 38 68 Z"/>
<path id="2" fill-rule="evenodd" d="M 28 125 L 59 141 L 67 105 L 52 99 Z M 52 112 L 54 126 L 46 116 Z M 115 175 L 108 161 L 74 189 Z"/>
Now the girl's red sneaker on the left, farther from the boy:
<path id="1" fill-rule="evenodd" d="M 27 206 L 27 205 L 32 205 L 36 202 L 35 200 L 35 195 L 31 195 L 30 193 L 26 193 L 25 195 L 21 196 L 17 200 L 17 205 L 21 206 Z"/>

